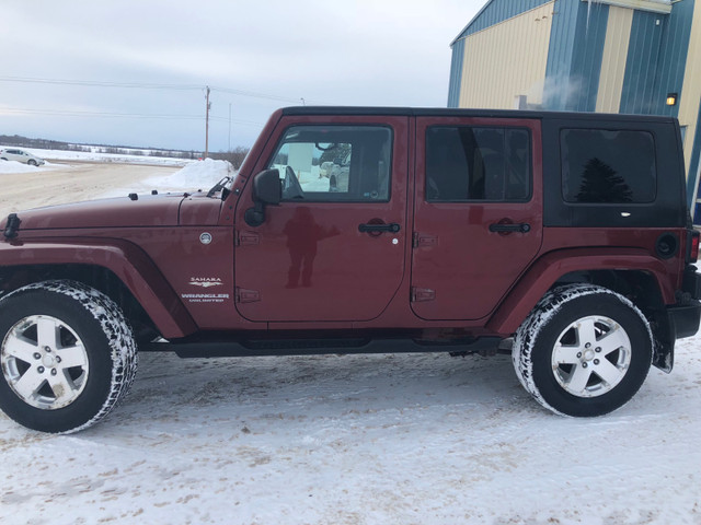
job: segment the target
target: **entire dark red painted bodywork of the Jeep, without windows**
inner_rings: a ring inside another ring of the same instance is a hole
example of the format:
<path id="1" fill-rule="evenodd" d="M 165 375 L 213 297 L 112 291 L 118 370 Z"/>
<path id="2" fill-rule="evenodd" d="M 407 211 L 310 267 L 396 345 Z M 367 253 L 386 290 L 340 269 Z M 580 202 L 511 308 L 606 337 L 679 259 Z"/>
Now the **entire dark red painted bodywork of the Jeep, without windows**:
<path id="1" fill-rule="evenodd" d="M 312 124 L 391 127 L 390 200 L 281 202 L 266 208 L 262 225 L 246 225 L 254 175 L 268 166 L 287 127 Z M 424 137 L 434 124 L 528 128 L 531 197 L 427 202 Z M 108 268 L 173 339 L 278 329 L 508 336 L 558 279 L 581 270 L 647 272 L 664 303 L 674 304 L 683 256 L 663 259 L 655 249 L 671 231 L 683 254 L 683 229 L 543 226 L 541 125 L 532 115 L 276 112 L 226 200 L 173 194 L 21 212 L 19 236 L 0 243 L 0 264 Z M 528 223 L 530 231 L 490 232 L 504 220 Z M 397 223 L 400 231 L 358 231 L 372 221 Z M 412 302 L 412 295 L 423 300 Z"/>

